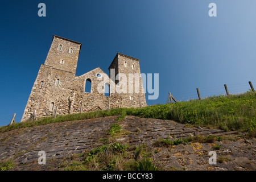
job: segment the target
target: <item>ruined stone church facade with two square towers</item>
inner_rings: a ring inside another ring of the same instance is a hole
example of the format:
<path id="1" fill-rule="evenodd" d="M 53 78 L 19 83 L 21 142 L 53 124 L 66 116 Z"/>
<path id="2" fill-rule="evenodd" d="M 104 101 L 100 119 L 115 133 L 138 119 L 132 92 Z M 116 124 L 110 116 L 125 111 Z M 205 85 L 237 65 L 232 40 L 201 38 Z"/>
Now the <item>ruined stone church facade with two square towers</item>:
<path id="1" fill-rule="evenodd" d="M 138 59 L 117 53 L 109 66 L 109 76 L 99 67 L 76 76 L 81 46 L 79 42 L 53 35 L 21 122 L 35 110 L 37 117 L 46 117 L 55 114 L 56 108 L 61 115 L 106 110 L 109 105 L 110 108 L 147 106 Z M 85 92 L 86 86 L 90 91 Z M 105 86 L 109 88 L 107 96 Z"/>

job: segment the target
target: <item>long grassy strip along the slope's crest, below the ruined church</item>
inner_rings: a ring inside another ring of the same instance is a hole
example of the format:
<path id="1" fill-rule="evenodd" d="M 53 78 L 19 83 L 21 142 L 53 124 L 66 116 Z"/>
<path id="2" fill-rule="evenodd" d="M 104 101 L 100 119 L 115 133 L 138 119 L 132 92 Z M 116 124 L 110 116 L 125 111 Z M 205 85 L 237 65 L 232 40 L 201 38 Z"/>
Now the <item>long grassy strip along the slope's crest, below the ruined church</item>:
<path id="1" fill-rule="evenodd" d="M 0 132 L 46 125 L 48 123 L 76 121 L 119 115 L 117 122 L 126 115 L 143 118 L 172 119 L 181 123 L 209 126 L 223 130 L 253 131 L 256 127 L 256 93 L 247 92 L 232 96 L 213 96 L 201 101 L 191 100 L 175 104 L 153 105 L 143 108 L 119 108 L 92 111 L 81 114 L 59 115 L 56 118 L 39 118 L 36 122 L 15 123 L 11 126 L 0 127 Z"/>

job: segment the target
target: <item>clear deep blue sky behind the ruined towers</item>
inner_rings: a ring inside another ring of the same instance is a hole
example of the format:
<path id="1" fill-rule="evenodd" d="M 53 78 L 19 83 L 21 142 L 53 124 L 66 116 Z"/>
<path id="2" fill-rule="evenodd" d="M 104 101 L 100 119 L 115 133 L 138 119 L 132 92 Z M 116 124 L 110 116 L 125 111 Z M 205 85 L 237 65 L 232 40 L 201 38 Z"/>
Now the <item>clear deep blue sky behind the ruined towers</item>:
<path id="1" fill-rule="evenodd" d="M 38 4 L 46 4 L 46 17 Z M 210 17 L 209 3 L 217 17 Z M 255 0 L 3 1 L 0 6 L 0 126 L 20 122 L 52 35 L 82 43 L 76 75 L 108 67 L 117 52 L 159 73 L 159 98 L 177 100 L 256 88 Z"/>

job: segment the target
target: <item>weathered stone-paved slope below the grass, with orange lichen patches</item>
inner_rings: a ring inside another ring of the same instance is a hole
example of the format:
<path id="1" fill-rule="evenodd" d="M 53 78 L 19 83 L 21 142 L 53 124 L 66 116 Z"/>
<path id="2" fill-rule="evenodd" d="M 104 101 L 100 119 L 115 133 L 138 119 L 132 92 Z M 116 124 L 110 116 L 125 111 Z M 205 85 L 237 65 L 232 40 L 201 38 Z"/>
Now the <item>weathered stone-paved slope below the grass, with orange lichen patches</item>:
<path id="1" fill-rule="evenodd" d="M 0 162 L 13 159 L 13 170 L 59 170 L 61 161 L 72 155 L 84 154 L 93 148 L 104 145 L 113 123 L 118 116 L 86 119 L 82 121 L 67 121 L 51 123 L 43 126 L 0 133 Z M 236 131 L 225 132 L 218 129 L 207 129 L 199 126 L 184 125 L 170 120 L 138 118 L 126 116 L 118 124 L 125 134 L 115 139 L 115 142 L 129 144 L 130 147 L 145 144 L 153 147 L 155 163 L 164 170 L 254 170 L 256 169 L 256 146 L 254 139 L 236 137 Z M 222 137 L 221 141 L 213 143 L 192 142 L 169 147 L 154 147 L 154 142 L 160 139 L 185 139 L 189 136 Z M 226 139 L 225 139 L 226 137 Z M 228 139 L 230 138 L 230 139 Z M 229 158 L 230 161 L 210 165 L 209 151 L 215 144 L 221 145 L 217 152 L 218 158 Z M 38 164 L 38 152 L 46 152 L 47 165 Z"/>

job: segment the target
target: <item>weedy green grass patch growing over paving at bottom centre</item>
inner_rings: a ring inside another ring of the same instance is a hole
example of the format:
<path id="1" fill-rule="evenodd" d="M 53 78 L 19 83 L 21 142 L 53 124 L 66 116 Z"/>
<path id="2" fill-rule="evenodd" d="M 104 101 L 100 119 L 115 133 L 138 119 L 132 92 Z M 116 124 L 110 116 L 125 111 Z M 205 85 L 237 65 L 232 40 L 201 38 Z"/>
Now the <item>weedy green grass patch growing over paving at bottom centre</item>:
<path id="1" fill-rule="evenodd" d="M 138 156 L 140 156 L 138 158 Z M 144 145 L 130 147 L 111 143 L 94 148 L 82 155 L 64 160 L 58 167 L 64 171 L 156 171 L 150 149 Z"/>

